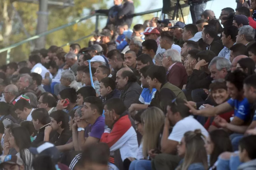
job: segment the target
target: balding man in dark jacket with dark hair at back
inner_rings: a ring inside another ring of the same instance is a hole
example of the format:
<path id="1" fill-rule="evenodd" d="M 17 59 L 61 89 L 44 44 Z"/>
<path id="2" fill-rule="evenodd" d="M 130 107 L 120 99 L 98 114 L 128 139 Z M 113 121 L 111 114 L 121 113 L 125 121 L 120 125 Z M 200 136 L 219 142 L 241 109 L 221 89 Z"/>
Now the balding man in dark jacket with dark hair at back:
<path id="1" fill-rule="evenodd" d="M 137 83 L 137 77 L 129 68 L 122 68 L 116 73 L 116 88 L 121 91 L 120 99 L 127 108 L 131 104 L 137 103 L 142 92 L 140 85 Z"/>

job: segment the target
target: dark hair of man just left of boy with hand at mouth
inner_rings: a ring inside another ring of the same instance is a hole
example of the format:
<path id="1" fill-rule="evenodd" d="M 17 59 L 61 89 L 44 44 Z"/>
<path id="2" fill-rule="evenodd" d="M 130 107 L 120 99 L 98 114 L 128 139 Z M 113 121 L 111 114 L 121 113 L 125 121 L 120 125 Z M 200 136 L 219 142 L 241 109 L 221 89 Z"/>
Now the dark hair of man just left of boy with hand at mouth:
<path id="1" fill-rule="evenodd" d="M 42 124 L 42 125 L 47 125 L 50 123 L 51 119 L 49 116 L 49 113 L 47 110 L 43 108 L 37 108 L 31 113 L 32 119 L 37 120 Z"/>

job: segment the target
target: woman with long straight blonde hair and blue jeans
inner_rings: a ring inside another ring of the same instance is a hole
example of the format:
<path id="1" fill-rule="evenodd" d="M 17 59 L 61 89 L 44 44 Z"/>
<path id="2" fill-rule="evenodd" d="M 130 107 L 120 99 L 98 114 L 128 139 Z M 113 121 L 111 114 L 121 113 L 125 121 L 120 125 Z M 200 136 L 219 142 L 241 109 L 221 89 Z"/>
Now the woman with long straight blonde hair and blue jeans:
<path id="1" fill-rule="evenodd" d="M 160 141 L 164 125 L 164 113 L 157 107 L 146 109 L 141 115 L 141 122 L 144 126 L 142 138 L 142 156 L 145 159 L 134 160 L 129 170 L 151 169 L 151 161 L 156 154 L 160 153 Z"/>

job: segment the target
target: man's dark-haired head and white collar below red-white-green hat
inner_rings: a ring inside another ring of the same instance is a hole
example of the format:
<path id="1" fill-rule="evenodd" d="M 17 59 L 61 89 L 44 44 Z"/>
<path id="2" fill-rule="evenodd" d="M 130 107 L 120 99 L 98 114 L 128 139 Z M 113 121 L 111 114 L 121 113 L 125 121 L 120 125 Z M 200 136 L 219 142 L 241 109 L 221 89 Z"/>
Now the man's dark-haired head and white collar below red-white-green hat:
<path id="1" fill-rule="evenodd" d="M 15 111 L 19 119 L 32 121 L 31 113 L 33 112 L 34 108 L 31 107 L 27 100 L 18 100 L 15 103 L 13 110 Z"/>

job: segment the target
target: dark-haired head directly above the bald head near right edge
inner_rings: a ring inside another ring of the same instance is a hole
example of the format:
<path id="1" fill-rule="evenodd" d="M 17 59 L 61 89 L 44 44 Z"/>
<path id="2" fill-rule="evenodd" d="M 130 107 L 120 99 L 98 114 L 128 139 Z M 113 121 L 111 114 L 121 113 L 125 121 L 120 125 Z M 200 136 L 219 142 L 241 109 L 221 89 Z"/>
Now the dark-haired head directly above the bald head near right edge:
<path id="1" fill-rule="evenodd" d="M 235 45 L 231 46 L 229 49 L 230 49 L 230 61 L 231 62 L 236 58 L 236 56 L 239 56 L 239 55 L 248 56 L 247 48 L 242 43 L 235 44 Z"/>

